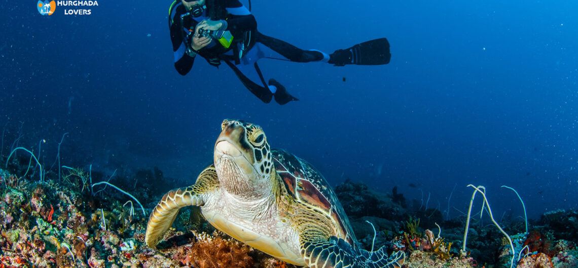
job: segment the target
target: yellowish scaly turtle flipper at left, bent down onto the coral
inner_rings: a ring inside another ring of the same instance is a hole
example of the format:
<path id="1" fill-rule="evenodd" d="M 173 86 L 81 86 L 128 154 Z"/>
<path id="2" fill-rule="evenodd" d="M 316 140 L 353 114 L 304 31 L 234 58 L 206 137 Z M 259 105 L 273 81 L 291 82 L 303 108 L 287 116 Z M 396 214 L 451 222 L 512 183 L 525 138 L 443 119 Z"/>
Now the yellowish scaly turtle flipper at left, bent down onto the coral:
<path id="1" fill-rule="evenodd" d="M 218 186 L 217 172 L 213 165 L 205 168 L 197 182 L 189 187 L 178 188 L 167 192 L 150 213 L 144 241 L 150 248 L 155 248 L 162 235 L 175 221 L 179 209 L 184 206 L 205 205 L 203 194 L 213 191 Z"/>

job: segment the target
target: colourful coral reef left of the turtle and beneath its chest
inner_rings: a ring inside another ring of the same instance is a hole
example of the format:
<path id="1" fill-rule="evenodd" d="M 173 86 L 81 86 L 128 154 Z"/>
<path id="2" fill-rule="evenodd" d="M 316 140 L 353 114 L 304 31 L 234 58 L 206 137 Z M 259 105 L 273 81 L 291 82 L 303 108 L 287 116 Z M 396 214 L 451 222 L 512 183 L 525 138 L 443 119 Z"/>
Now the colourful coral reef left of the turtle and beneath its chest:
<path id="1" fill-rule="evenodd" d="M 40 183 L 0 169 L 0 267 L 295 267 L 215 231 L 197 207 L 183 209 L 161 249 L 151 250 L 148 218 L 126 195 L 91 189 L 90 175 L 68 168 L 62 183 Z M 160 197 L 147 192 L 132 194 L 150 210 Z"/>

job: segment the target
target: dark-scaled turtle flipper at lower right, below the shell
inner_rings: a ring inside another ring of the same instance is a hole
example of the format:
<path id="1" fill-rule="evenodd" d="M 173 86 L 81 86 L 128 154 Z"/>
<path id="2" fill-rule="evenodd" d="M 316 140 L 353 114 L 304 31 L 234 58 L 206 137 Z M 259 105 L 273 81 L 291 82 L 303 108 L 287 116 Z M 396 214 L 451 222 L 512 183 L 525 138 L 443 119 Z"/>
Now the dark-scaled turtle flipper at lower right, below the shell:
<path id="1" fill-rule="evenodd" d="M 369 252 L 353 248 L 335 236 L 327 240 L 314 234 L 301 236 L 301 255 L 307 266 L 316 268 L 399 268 L 405 261 L 403 251 L 395 252 L 388 258 L 384 247 Z"/>

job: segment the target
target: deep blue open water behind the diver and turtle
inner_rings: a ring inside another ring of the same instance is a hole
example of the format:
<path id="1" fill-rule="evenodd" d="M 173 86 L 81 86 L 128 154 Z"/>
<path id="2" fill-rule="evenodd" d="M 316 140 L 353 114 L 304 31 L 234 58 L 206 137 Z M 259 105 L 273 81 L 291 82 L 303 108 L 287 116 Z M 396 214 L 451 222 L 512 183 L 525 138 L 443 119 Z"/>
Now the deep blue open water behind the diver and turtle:
<path id="1" fill-rule="evenodd" d="M 387 37 L 384 66 L 260 61 L 300 100 L 263 104 L 227 66 L 173 67 L 169 1 L 98 1 L 91 14 L 1 1 L 2 154 L 105 173 L 158 166 L 194 182 L 224 118 L 273 147 L 444 214 L 486 186 L 495 214 L 578 206 L 576 1 L 252 1 L 260 32 L 331 53 Z M 248 1 L 243 1 L 248 5 Z M 455 186 L 455 191 L 452 190 Z M 449 197 L 451 195 L 451 201 Z M 428 198 L 429 197 L 429 198 Z M 454 209 L 455 207 L 455 209 Z M 402 219 L 400 219 L 402 220 Z M 403 219 L 405 220 L 405 219 Z"/>

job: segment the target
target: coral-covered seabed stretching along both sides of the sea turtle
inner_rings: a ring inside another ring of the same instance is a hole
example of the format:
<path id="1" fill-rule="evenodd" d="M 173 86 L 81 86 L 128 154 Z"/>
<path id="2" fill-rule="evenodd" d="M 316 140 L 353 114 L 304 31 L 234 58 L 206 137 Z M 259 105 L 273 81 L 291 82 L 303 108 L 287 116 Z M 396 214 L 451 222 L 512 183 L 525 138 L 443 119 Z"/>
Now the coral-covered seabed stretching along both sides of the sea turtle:
<path id="1" fill-rule="evenodd" d="M 148 218 L 135 213 L 131 198 L 112 187 L 92 188 L 96 178 L 107 180 L 102 173 L 66 168 L 60 183 L 53 172 L 39 182 L 28 163 L 15 157 L 10 172 L 0 169 L 0 267 L 295 267 L 216 231 L 198 207 L 183 208 L 152 250 L 144 245 Z M 150 211 L 164 192 L 145 184 L 168 180 L 158 168 L 137 173 L 143 184 L 117 185 Z M 517 267 L 578 267 L 573 210 L 544 214 L 528 233 L 520 222 L 504 224 L 517 233 L 512 256 L 502 233 L 480 220 L 470 224 L 466 252 L 460 252 L 454 245 L 462 244 L 465 218 L 444 221 L 436 209 L 413 211 L 397 188 L 380 194 L 348 180 L 336 192 L 361 246 L 405 251 L 403 267 L 509 267 L 512 258 Z"/>

